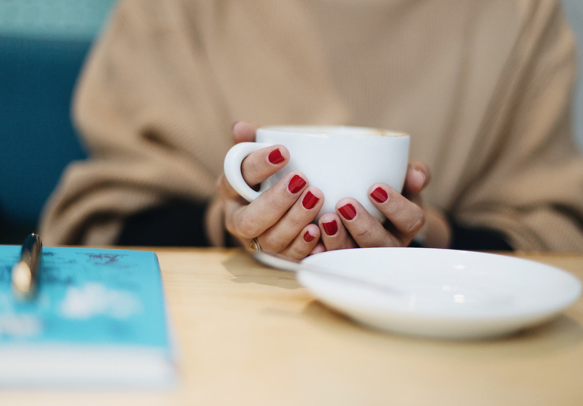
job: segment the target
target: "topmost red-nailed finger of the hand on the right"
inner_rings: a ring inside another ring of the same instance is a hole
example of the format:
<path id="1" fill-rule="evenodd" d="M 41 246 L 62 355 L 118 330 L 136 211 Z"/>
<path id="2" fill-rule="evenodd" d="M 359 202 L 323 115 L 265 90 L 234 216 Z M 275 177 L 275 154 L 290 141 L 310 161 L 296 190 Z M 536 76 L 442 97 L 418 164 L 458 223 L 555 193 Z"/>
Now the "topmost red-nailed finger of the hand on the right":
<path id="1" fill-rule="evenodd" d="M 375 183 L 368 188 L 368 199 L 391 221 L 396 231 L 407 238 L 415 235 L 425 223 L 423 209 L 385 183 Z"/>

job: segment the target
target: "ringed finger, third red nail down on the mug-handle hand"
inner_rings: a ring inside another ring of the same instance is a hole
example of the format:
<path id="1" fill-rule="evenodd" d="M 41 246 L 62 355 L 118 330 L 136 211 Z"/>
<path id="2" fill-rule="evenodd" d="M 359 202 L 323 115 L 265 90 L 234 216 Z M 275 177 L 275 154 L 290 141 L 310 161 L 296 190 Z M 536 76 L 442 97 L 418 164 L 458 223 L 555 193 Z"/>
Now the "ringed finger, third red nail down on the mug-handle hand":
<path id="1" fill-rule="evenodd" d="M 314 186 L 305 189 L 287 213 L 257 237 L 261 248 L 268 252 L 280 252 L 286 248 L 307 224 L 314 221 L 322 204 L 324 204 L 324 193 L 320 189 Z M 317 226 L 314 225 L 314 227 Z"/>

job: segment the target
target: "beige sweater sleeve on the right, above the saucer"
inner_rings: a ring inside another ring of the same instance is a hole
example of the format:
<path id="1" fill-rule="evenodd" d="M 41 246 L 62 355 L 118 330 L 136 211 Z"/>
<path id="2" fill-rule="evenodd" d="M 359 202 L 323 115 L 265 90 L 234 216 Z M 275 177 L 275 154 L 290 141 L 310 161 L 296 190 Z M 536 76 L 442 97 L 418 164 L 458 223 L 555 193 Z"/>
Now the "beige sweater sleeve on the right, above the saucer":
<path id="1" fill-rule="evenodd" d="M 503 232 L 514 249 L 580 252 L 583 158 L 571 130 L 574 36 L 558 2 L 531 4 L 453 216 L 465 227 Z"/>

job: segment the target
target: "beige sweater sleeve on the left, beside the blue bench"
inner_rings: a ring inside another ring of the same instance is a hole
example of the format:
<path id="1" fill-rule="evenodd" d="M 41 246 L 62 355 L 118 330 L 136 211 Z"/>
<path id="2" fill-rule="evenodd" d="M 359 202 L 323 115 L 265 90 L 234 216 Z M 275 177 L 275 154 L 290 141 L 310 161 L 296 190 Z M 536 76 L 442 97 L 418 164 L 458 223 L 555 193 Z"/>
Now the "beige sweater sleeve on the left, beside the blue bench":
<path id="1" fill-rule="evenodd" d="M 108 244 L 124 219 L 215 193 L 232 144 L 222 101 L 178 0 L 125 0 L 80 75 L 73 118 L 90 151 L 45 205 L 48 244 Z"/>

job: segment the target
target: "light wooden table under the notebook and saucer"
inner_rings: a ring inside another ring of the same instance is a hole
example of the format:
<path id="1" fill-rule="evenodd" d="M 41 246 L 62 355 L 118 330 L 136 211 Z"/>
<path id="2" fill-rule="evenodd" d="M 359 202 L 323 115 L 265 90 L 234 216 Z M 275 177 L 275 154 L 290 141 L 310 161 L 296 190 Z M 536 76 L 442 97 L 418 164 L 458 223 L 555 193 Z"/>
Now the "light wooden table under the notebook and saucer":
<path id="1" fill-rule="evenodd" d="M 167 393 L 0 392 L 0 404 L 583 405 L 583 300 L 495 341 L 365 329 L 237 249 L 156 249 L 182 351 Z M 583 255 L 519 253 L 583 278 Z"/>

